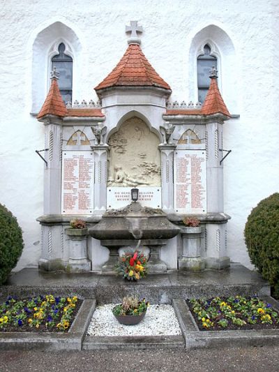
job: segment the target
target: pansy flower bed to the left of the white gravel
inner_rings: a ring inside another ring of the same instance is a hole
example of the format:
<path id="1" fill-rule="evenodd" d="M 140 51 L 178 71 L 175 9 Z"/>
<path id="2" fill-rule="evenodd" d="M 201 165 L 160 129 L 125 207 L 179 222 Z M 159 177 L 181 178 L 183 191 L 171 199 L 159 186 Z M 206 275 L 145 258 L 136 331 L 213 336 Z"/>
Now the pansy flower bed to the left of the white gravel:
<path id="1" fill-rule="evenodd" d="M 0 332 L 68 332 L 81 304 L 76 296 L 10 296 L 0 304 Z"/>

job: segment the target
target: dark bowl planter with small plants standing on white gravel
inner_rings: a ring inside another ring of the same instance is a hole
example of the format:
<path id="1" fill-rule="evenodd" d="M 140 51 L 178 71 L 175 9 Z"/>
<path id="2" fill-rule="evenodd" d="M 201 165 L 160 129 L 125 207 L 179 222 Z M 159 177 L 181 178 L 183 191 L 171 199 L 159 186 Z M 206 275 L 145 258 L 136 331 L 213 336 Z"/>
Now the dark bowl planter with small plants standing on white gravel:
<path id="1" fill-rule="evenodd" d="M 112 308 L 112 313 L 123 325 L 137 325 L 146 314 L 149 302 L 141 301 L 137 297 L 124 297 L 121 304 Z"/>

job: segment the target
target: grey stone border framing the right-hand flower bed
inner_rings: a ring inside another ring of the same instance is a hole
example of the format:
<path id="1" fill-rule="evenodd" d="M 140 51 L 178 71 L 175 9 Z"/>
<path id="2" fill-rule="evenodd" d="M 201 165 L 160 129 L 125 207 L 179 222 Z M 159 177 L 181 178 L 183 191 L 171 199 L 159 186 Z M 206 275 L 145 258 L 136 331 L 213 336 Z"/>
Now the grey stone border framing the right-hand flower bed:
<path id="1" fill-rule="evenodd" d="M 279 310 L 279 302 L 269 296 L 261 296 Z M 227 348 L 237 346 L 279 345 L 279 329 L 199 331 L 188 305 L 183 299 L 173 299 L 174 311 L 179 320 L 186 349 Z"/>

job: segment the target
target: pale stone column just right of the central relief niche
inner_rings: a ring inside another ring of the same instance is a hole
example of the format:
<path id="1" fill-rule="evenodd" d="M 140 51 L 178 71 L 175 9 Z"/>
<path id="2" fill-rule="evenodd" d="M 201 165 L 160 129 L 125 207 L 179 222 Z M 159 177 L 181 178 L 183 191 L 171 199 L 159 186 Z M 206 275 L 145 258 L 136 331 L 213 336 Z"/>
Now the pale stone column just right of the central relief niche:
<path id="1" fill-rule="evenodd" d="M 174 212 L 174 149 L 175 144 L 159 144 L 161 152 L 162 209 Z"/>

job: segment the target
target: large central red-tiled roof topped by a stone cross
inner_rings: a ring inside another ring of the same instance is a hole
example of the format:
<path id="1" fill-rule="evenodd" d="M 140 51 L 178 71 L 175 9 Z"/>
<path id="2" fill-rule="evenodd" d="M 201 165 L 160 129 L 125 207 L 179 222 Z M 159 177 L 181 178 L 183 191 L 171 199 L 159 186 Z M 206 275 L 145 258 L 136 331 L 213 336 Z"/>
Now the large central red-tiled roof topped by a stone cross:
<path id="1" fill-rule="evenodd" d="M 97 85 L 96 91 L 108 87 L 160 87 L 169 89 L 169 84 L 156 73 L 144 56 L 140 45 L 130 44 L 125 54 L 105 77 L 103 82 Z"/>

